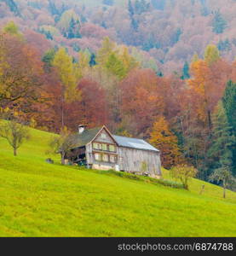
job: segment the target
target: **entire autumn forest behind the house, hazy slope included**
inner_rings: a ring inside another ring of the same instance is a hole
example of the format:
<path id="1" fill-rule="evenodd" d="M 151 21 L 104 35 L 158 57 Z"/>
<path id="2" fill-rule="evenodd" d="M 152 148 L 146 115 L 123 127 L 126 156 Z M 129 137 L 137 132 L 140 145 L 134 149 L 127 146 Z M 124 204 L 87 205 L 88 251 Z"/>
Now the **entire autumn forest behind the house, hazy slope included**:
<path id="1" fill-rule="evenodd" d="M 235 0 L 0 0 L 0 109 L 45 131 L 107 125 L 170 169 L 236 174 Z"/>

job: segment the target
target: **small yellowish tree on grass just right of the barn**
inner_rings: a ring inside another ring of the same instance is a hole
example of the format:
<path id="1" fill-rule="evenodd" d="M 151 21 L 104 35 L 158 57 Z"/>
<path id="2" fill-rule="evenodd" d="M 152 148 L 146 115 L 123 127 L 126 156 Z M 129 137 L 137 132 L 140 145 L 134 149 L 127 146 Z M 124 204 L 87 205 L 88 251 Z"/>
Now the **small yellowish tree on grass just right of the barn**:
<path id="1" fill-rule="evenodd" d="M 188 181 L 192 177 L 196 177 L 198 170 L 193 166 L 178 165 L 171 169 L 172 177 L 181 180 L 185 189 L 188 189 Z"/>

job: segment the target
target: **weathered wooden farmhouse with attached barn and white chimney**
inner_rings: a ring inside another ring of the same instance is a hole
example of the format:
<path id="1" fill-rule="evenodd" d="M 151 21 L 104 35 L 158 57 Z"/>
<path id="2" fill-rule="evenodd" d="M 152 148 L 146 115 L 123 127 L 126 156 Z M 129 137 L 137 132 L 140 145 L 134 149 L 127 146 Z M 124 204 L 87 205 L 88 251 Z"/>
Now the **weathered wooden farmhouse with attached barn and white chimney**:
<path id="1" fill-rule="evenodd" d="M 161 176 L 159 150 L 142 139 L 112 135 L 105 125 L 89 130 L 79 125 L 72 140 L 75 147 L 66 154 L 68 163 L 149 177 Z"/>

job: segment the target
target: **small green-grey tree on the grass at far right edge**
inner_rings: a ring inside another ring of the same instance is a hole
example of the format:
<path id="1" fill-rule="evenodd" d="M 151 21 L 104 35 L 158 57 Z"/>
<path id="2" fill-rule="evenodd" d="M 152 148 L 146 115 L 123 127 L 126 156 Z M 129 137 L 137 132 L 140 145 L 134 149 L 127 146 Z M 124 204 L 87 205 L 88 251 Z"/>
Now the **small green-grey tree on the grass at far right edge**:
<path id="1" fill-rule="evenodd" d="M 221 168 L 216 169 L 210 175 L 210 181 L 221 182 L 223 187 L 223 198 L 226 198 L 226 189 L 227 186 L 235 183 L 235 178 L 230 172 L 230 168 L 228 166 L 222 166 Z"/>

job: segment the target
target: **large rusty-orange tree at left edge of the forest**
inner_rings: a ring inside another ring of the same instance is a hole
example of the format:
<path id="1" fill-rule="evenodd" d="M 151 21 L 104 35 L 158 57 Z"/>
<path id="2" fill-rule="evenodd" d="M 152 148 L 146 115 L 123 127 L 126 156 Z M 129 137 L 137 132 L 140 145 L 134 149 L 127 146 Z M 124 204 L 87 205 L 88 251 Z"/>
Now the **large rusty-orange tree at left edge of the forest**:
<path id="1" fill-rule="evenodd" d="M 17 111 L 24 119 L 41 100 L 43 64 L 37 49 L 18 34 L 0 35 L 0 107 Z M 2 64 L 1 63 L 1 64 Z"/>

